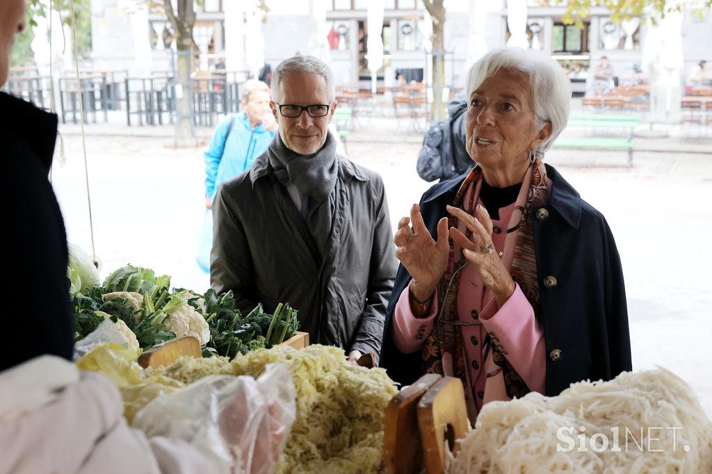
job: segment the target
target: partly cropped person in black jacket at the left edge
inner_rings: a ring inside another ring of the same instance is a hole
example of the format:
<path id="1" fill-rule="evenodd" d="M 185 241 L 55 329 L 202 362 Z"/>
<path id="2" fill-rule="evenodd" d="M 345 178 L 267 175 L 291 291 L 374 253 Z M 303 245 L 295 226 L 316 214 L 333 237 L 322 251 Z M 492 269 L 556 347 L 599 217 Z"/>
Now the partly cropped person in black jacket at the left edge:
<path id="1" fill-rule="evenodd" d="M 0 86 L 24 23 L 23 0 L 0 2 Z M 48 172 L 57 116 L 0 93 L 0 194 L 5 250 L 0 272 L 5 340 L 0 371 L 41 354 L 71 360 L 74 319 L 67 239 Z"/>

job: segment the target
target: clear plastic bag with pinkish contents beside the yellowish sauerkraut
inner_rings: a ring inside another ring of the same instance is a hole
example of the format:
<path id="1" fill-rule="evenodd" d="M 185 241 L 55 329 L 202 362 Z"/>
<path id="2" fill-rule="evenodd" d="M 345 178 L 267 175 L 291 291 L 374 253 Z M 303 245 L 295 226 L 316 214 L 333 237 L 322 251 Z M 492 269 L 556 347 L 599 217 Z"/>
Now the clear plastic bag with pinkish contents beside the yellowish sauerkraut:
<path id="1" fill-rule="evenodd" d="M 191 443 L 211 473 L 271 474 L 296 415 L 295 389 L 283 364 L 251 376 L 211 375 L 139 411 L 133 427 L 146 436 Z"/>

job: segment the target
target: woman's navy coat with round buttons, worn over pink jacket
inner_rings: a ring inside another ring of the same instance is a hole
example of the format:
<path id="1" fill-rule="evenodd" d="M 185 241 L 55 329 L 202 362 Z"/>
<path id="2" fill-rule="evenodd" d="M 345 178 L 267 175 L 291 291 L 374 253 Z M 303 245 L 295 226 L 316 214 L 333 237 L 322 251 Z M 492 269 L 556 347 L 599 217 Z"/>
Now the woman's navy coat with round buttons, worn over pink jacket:
<path id="1" fill-rule="evenodd" d="M 535 208 L 533 219 L 547 354 L 545 394 L 554 396 L 576 381 L 612 379 L 631 370 L 632 363 L 623 272 L 608 224 L 553 167 L 546 169 L 553 188 L 546 212 Z M 464 178 L 436 184 L 423 195 L 420 209 L 432 236 Z M 553 288 L 543 283 L 548 276 L 555 278 Z M 410 279 L 399 266 L 381 355 L 382 367 L 401 384 L 422 375 L 420 351 L 399 352 L 390 335 L 393 308 Z"/>

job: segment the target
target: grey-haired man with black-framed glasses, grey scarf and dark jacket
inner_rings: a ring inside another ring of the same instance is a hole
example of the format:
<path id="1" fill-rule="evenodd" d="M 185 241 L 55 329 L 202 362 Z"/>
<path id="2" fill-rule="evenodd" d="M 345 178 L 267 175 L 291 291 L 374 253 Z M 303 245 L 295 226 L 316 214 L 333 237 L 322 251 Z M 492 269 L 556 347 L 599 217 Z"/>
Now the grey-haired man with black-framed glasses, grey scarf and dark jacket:
<path id="1" fill-rule="evenodd" d="M 242 312 L 289 302 L 312 344 L 342 347 L 354 362 L 378 356 L 397 268 L 383 181 L 337 154 L 321 60 L 283 61 L 271 99 L 279 133 L 213 204 L 211 286 L 232 290 Z"/>

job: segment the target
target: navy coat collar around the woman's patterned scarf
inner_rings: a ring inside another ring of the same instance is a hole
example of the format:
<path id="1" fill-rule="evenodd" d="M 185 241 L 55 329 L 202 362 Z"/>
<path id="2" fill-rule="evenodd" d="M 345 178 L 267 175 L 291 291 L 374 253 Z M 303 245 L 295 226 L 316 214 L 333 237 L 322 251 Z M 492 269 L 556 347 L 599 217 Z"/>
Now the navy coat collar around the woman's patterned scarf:
<path id="1" fill-rule="evenodd" d="M 554 167 L 545 164 L 546 175 L 551 179 L 552 188 L 549 195 L 547 206 L 557 211 L 558 214 L 573 228 L 578 228 L 581 221 L 581 196 L 566 181 Z M 423 203 L 435 201 L 444 196 L 447 202 L 452 202 L 457 194 L 458 189 L 465 180 L 469 171 L 459 177 L 443 181 L 437 186 L 433 186 L 428 193 L 423 196 Z"/>

